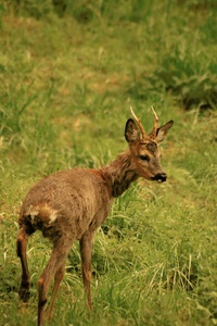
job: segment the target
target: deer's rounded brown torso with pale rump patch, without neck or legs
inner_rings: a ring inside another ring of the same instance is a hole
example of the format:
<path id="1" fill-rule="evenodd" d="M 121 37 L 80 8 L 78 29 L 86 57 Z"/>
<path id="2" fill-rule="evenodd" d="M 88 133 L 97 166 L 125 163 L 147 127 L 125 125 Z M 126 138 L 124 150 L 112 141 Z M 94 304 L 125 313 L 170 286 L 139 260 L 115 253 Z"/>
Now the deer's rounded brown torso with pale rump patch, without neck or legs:
<path id="1" fill-rule="evenodd" d="M 38 181 L 24 199 L 20 224 L 44 237 L 71 234 L 80 239 L 106 218 L 112 203 L 110 191 L 98 171 L 73 168 Z M 53 240 L 53 239 L 52 239 Z"/>

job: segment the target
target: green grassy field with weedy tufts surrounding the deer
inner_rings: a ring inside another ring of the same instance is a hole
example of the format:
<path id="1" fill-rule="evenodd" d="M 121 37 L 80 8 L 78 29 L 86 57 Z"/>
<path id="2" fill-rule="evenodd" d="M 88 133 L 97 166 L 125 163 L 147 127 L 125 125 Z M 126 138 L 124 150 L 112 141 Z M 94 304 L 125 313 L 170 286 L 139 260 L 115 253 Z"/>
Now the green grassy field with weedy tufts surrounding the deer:
<path id="1" fill-rule="evenodd" d="M 217 325 L 216 1 L 77 2 L 0 4 L 0 325 L 36 325 L 51 249 L 30 238 L 22 304 L 26 191 L 55 171 L 115 159 L 130 105 L 146 129 L 151 105 L 162 124 L 175 121 L 162 146 L 167 183 L 140 179 L 97 233 L 92 313 L 75 243 L 49 325 Z"/>

